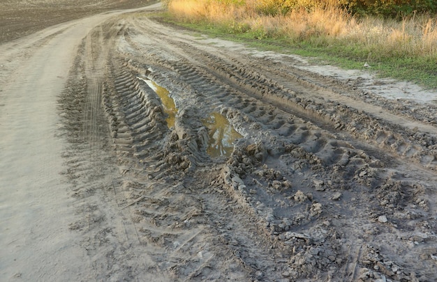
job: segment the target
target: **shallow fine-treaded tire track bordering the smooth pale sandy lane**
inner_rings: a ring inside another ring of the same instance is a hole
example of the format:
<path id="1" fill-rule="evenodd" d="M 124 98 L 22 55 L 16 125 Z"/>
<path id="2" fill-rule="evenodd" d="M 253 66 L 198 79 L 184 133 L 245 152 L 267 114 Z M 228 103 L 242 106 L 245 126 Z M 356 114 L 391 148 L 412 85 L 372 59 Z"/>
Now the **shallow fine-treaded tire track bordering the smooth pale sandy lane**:
<path id="1" fill-rule="evenodd" d="M 110 127 L 105 125 L 102 108 L 110 91 L 106 63 L 114 37 L 108 36 L 112 39 L 105 42 L 103 32 L 117 33 L 117 28 L 103 25 L 84 39 L 71 81 L 60 99 L 71 143 L 64 156 L 66 175 L 72 184 L 72 196 L 77 198 L 77 213 L 84 215 L 70 228 L 83 237 L 82 246 L 94 269 L 93 279 L 135 281 L 142 277 L 170 281 L 150 253 L 140 251 L 142 242 L 131 212 L 121 209 L 135 195 L 126 196 L 129 187 L 124 173 L 117 167 L 117 157 L 108 150 Z"/>

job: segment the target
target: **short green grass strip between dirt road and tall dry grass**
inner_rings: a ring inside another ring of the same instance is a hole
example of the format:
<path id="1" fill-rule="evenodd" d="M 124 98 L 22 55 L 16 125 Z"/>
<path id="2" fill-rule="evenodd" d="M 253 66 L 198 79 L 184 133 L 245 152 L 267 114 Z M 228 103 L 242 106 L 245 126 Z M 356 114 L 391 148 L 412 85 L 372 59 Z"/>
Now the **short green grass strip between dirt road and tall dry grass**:
<path id="1" fill-rule="evenodd" d="M 311 57 L 320 64 L 332 64 L 348 69 L 364 69 L 364 63 L 367 62 L 371 68 L 366 70 L 379 77 L 392 77 L 420 84 L 424 88 L 437 89 L 437 54 L 406 54 L 403 49 L 399 49 L 399 54 L 397 54 L 396 46 L 392 47 L 390 51 L 378 52 L 378 45 L 373 43 L 362 45 L 353 40 L 336 40 L 323 35 L 317 36 L 317 34 L 306 38 L 290 38 L 290 36 L 281 33 L 267 34 L 265 29 L 249 29 L 238 22 L 218 23 L 205 19 L 188 20 L 175 17 L 169 12 L 155 14 L 154 17 L 161 22 L 182 26 L 185 29 L 205 33 L 208 36 L 244 42 L 244 44 L 257 49 Z M 387 42 L 387 44 L 402 44 L 403 40 L 408 38 L 399 34 L 399 38 L 392 36 L 380 40 L 393 41 L 394 39 L 397 41 Z M 437 45 L 437 41 L 435 44 Z"/>

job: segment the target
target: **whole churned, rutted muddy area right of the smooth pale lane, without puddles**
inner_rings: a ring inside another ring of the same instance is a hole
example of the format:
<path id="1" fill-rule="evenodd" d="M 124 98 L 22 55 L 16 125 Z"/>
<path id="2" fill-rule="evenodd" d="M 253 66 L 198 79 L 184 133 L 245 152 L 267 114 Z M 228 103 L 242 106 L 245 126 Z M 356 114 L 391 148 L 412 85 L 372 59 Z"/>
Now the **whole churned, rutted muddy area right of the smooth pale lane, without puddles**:
<path id="1" fill-rule="evenodd" d="M 87 213 L 72 228 L 96 277 L 437 279 L 435 123 L 364 96 L 144 15 L 98 26 L 61 100 Z M 226 144 L 231 127 L 242 137 Z M 211 141 L 233 150 L 208 155 Z"/>

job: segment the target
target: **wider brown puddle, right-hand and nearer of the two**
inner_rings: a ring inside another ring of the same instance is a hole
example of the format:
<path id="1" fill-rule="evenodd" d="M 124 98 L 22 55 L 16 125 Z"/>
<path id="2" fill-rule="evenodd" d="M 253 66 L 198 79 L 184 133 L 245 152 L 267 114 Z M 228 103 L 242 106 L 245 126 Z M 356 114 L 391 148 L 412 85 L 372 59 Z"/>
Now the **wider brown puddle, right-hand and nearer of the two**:
<path id="1" fill-rule="evenodd" d="M 209 118 L 202 120 L 202 123 L 209 129 L 208 155 L 229 157 L 234 149 L 234 141 L 242 138 L 242 134 L 235 131 L 228 120 L 217 112 L 211 113 Z"/>

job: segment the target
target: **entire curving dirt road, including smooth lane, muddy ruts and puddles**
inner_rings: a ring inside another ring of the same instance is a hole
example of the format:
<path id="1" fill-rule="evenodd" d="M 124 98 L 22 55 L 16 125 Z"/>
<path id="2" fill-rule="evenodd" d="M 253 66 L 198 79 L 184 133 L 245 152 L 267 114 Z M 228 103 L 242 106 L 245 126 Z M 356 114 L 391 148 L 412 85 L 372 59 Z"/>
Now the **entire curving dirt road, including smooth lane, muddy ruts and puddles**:
<path id="1" fill-rule="evenodd" d="M 437 280 L 435 104 L 147 10 L 0 51 L 0 280 Z"/>

